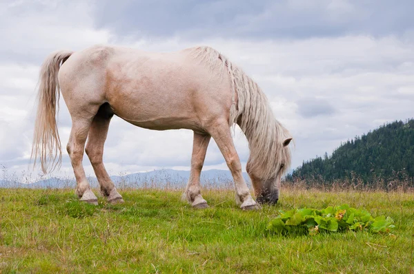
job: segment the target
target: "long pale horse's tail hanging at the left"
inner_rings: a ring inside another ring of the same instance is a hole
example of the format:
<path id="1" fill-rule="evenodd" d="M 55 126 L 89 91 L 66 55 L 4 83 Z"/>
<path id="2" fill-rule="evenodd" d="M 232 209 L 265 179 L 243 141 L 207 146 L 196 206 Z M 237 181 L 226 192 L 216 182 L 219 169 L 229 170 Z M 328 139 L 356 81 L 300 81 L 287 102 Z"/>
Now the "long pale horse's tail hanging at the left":
<path id="1" fill-rule="evenodd" d="M 43 62 L 39 74 L 37 116 L 34 123 L 30 160 L 34 158 L 33 167 L 35 167 L 36 159 L 40 156 L 43 173 L 53 171 L 61 164 L 62 149 L 56 123 L 56 105 L 59 104 L 59 81 L 57 76 L 61 63 L 63 64 L 72 53 L 59 51 L 50 54 Z M 50 166 L 51 169 L 49 169 Z"/>

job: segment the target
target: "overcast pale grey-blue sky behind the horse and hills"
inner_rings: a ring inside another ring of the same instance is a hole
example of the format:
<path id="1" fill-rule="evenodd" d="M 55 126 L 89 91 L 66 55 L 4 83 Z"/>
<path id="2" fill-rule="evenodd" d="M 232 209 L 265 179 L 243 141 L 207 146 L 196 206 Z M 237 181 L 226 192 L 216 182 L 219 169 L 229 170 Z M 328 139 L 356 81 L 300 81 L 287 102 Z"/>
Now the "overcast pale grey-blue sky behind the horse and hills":
<path id="1" fill-rule="evenodd" d="M 39 175 L 29 163 L 39 66 L 55 50 L 96 44 L 172 52 L 210 45 L 251 76 L 290 130 L 292 167 L 341 142 L 414 117 L 411 0 L 1 0 L 0 165 Z M 71 120 L 63 100 L 59 135 Z M 248 143 L 234 142 L 243 166 Z M 103 160 L 111 175 L 188 170 L 193 133 L 152 131 L 112 118 Z M 87 175 L 93 175 L 87 156 Z M 227 169 L 214 140 L 204 169 Z M 63 149 L 61 169 L 73 176 Z M 32 177 L 30 177 L 32 178 Z"/>

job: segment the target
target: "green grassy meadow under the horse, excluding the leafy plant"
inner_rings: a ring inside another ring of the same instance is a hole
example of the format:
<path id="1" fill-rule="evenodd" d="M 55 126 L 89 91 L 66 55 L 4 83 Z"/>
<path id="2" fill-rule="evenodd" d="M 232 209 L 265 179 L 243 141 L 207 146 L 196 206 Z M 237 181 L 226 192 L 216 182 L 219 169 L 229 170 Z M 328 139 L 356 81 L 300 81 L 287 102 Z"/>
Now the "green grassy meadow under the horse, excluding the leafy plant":
<path id="1" fill-rule="evenodd" d="M 95 191 L 97 193 L 97 191 Z M 204 191 L 210 209 L 181 192 L 120 191 L 97 207 L 74 191 L 0 189 L 0 273 L 410 273 L 414 195 L 286 190 L 275 207 L 245 212 L 232 191 Z M 337 204 L 395 220 L 395 236 L 366 232 L 271 235 L 279 209 Z M 412 272 L 411 272 L 412 273 Z"/>

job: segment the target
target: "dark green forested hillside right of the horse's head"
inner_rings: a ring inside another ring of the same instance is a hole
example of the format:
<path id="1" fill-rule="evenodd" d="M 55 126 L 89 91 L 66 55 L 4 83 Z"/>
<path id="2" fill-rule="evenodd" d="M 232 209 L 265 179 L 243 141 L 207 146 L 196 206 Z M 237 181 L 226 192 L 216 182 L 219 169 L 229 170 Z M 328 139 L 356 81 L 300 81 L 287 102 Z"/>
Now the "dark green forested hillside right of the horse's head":
<path id="1" fill-rule="evenodd" d="M 331 156 L 302 164 L 286 180 L 350 180 L 364 184 L 375 180 L 414 178 L 414 119 L 395 121 L 341 144 Z"/>

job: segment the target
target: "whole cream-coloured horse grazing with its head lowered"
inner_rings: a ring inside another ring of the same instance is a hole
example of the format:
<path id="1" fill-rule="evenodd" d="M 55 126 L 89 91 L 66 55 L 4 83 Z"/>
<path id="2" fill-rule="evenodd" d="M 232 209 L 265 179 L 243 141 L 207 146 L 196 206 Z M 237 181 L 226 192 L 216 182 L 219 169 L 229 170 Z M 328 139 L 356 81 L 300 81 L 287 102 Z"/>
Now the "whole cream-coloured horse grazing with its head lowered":
<path id="1" fill-rule="evenodd" d="M 103 145 L 115 114 L 146 129 L 191 129 L 194 132 L 190 179 L 184 198 L 195 208 L 208 204 L 200 193 L 200 173 L 210 137 L 230 169 L 242 209 L 274 204 L 280 179 L 290 165 L 292 140 L 273 116 L 262 90 L 226 56 L 210 47 L 170 53 L 97 45 L 80 52 L 50 54 L 40 72 L 39 105 L 32 158 L 40 156 L 44 173 L 61 162 L 56 115 L 59 89 L 72 117 L 66 149 L 80 200 L 97 204 L 82 166 L 86 151 L 108 202 L 124 202 L 103 166 Z M 239 125 L 248 140 L 246 171 L 257 202 L 242 176 L 230 128 Z M 86 144 L 86 139 L 88 143 Z"/>

